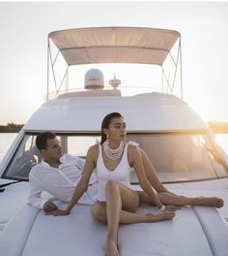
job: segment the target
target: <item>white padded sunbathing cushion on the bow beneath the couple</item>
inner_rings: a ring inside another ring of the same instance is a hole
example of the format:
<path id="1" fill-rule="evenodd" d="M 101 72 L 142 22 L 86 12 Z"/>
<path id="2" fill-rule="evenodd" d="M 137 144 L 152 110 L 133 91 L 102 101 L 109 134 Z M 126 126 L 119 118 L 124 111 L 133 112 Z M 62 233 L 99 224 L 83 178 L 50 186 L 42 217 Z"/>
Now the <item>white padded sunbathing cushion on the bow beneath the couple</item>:
<path id="1" fill-rule="evenodd" d="M 90 209 L 76 205 L 70 215 L 54 217 L 24 206 L 1 232 L 1 255 L 103 255 L 107 226 L 94 220 Z M 228 228 L 215 208 L 182 208 L 173 220 L 121 225 L 118 239 L 122 256 L 227 256 L 228 252 Z"/>

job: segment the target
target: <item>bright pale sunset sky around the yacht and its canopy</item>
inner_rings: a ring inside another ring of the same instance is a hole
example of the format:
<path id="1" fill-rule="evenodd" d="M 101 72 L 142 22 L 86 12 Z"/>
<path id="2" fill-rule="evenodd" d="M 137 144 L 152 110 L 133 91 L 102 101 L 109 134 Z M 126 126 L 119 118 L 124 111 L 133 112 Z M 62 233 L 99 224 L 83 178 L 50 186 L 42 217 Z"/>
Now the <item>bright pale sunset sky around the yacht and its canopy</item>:
<path id="1" fill-rule="evenodd" d="M 185 101 L 205 121 L 227 121 L 227 14 L 228 2 L 0 2 L 0 125 L 44 103 L 48 33 L 96 26 L 179 31 Z"/>

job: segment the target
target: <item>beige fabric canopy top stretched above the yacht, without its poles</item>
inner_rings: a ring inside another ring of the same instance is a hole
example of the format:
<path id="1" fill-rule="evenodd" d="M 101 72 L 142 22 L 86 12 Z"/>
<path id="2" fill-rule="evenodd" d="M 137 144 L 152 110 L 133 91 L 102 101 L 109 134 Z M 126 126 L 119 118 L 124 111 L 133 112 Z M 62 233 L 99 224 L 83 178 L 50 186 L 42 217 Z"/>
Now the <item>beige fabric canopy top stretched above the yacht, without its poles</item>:
<path id="1" fill-rule="evenodd" d="M 138 27 L 93 27 L 52 32 L 48 38 L 67 64 L 143 63 L 162 65 L 181 34 Z"/>

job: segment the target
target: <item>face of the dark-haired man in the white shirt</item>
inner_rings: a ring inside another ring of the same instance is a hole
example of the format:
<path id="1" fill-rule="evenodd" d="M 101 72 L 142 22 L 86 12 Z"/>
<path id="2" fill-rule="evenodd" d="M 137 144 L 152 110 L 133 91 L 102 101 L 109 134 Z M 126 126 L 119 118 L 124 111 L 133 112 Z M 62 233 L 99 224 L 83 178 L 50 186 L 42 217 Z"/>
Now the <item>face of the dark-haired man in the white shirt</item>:
<path id="1" fill-rule="evenodd" d="M 47 140 L 46 145 L 46 148 L 42 150 L 44 159 L 58 160 L 63 155 L 62 146 L 57 138 Z"/>

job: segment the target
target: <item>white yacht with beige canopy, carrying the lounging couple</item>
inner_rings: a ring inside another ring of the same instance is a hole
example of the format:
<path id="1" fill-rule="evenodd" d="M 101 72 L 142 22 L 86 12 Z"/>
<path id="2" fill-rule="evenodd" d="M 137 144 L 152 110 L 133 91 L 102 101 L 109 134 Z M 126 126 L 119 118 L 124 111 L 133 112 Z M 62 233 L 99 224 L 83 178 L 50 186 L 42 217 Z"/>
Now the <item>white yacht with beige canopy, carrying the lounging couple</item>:
<path id="1" fill-rule="evenodd" d="M 181 47 L 178 31 L 157 28 L 75 28 L 48 35 L 46 101 L 0 163 L 1 255 L 104 254 L 107 227 L 93 219 L 91 207 L 76 205 L 68 216 L 47 216 L 27 204 L 28 176 L 42 160 L 35 145 L 39 133 L 55 132 L 64 153 L 84 158 L 89 146 L 100 140 L 102 118 L 121 112 L 128 141 L 147 152 L 171 192 L 220 197 L 224 207 L 185 207 L 171 221 L 122 225 L 120 255 L 227 256 L 228 156 L 208 124 L 184 100 Z M 160 79 L 155 83 L 152 72 L 152 79 L 132 86 L 116 73 L 105 84 L 101 68 L 94 66 L 86 72 L 83 88 L 71 72 L 91 64 L 152 66 Z M 140 189 L 134 172 L 131 183 Z M 157 208 L 142 206 L 138 211 Z"/>

